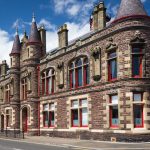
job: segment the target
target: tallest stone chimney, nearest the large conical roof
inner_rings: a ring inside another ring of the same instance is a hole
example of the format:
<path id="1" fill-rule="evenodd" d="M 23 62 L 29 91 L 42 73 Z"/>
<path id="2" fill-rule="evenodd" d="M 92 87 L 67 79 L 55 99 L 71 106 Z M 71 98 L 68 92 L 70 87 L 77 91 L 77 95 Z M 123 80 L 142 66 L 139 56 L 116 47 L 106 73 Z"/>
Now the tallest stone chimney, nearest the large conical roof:
<path id="1" fill-rule="evenodd" d="M 102 30 L 106 27 L 106 8 L 104 2 L 100 2 L 93 11 L 94 30 Z"/>

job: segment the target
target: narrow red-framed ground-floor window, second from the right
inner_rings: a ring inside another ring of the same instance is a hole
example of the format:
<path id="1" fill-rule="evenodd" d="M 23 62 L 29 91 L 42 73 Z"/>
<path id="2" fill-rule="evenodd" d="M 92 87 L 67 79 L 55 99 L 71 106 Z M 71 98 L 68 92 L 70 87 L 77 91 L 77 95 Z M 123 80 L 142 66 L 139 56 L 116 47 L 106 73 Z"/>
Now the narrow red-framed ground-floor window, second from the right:
<path id="1" fill-rule="evenodd" d="M 118 127 L 119 117 L 118 117 L 118 95 L 110 96 L 110 127 Z"/>

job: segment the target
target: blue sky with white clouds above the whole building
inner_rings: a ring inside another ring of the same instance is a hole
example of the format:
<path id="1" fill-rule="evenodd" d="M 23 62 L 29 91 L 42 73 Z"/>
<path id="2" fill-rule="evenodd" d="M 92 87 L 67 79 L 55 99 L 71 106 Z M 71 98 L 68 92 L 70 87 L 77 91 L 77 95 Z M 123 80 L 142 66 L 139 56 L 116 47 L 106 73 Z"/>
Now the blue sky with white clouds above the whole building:
<path id="1" fill-rule="evenodd" d="M 93 6 L 100 0 L 0 0 L 0 62 L 9 64 L 16 26 L 20 39 L 24 30 L 30 34 L 33 12 L 38 26 L 47 30 L 47 52 L 58 46 L 58 28 L 66 23 L 69 41 L 90 31 L 89 18 Z M 107 13 L 115 17 L 120 0 L 104 0 Z M 150 0 L 142 0 L 150 15 Z"/>

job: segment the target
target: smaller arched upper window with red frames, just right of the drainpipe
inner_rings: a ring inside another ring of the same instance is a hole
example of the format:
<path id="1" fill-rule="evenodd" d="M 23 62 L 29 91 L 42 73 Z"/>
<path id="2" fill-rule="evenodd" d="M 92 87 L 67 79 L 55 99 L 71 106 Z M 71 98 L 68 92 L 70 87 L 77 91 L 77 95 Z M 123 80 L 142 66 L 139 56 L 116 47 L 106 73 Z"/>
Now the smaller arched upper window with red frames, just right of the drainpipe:
<path id="1" fill-rule="evenodd" d="M 54 93 L 55 89 L 55 71 L 49 69 L 42 73 L 42 95 Z"/>

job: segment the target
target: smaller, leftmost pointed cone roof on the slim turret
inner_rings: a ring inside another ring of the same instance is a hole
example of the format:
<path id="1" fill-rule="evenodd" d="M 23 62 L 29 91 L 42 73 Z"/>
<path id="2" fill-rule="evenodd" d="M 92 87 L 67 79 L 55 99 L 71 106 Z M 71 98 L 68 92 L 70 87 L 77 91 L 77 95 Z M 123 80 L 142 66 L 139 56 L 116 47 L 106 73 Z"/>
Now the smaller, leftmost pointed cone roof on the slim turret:
<path id="1" fill-rule="evenodd" d="M 18 35 L 18 30 L 16 31 L 16 35 L 14 38 L 14 43 L 13 43 L 13 47 L 12 47 L 12 51 L 11 51 L 11 55 L 12 54 L 20 54 L 20 48 L 21 48 L 21 43 L 20 43 L 20 39 L 19 39 L 19 35 Z"/>

